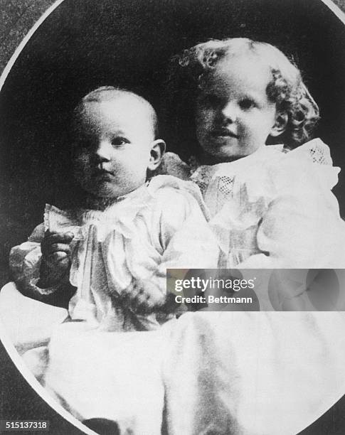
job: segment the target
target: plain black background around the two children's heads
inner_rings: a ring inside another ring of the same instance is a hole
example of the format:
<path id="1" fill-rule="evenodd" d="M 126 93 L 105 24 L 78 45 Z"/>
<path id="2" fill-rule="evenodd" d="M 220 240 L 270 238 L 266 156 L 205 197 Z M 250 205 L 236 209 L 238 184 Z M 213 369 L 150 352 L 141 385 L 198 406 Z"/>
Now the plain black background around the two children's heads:
<path id="1" fill-rule="evenodd" d="M 71 193 L 66 131 L 75 102 L 94 87 L 120 85 L 160 113 L 169 57 L 208 38 L 233 36 L 294 55 L 321 108 L 317 135 L 344 168 L 334 191 L 345 215 L 345 26 L 321 1 L 65 0 L 21 52 L 0 93 L 0 284 L 8 279 L 9 248 L 41 222 L 44 203 Z M 161 136 L 171 146 L 164 119 Z M 6 353 L 0 357 L 2 418 L 51 419 L 51 434 L 79 433 L 37 398 Z M 344 402 L 304 433 L 344 433 Z"/>

